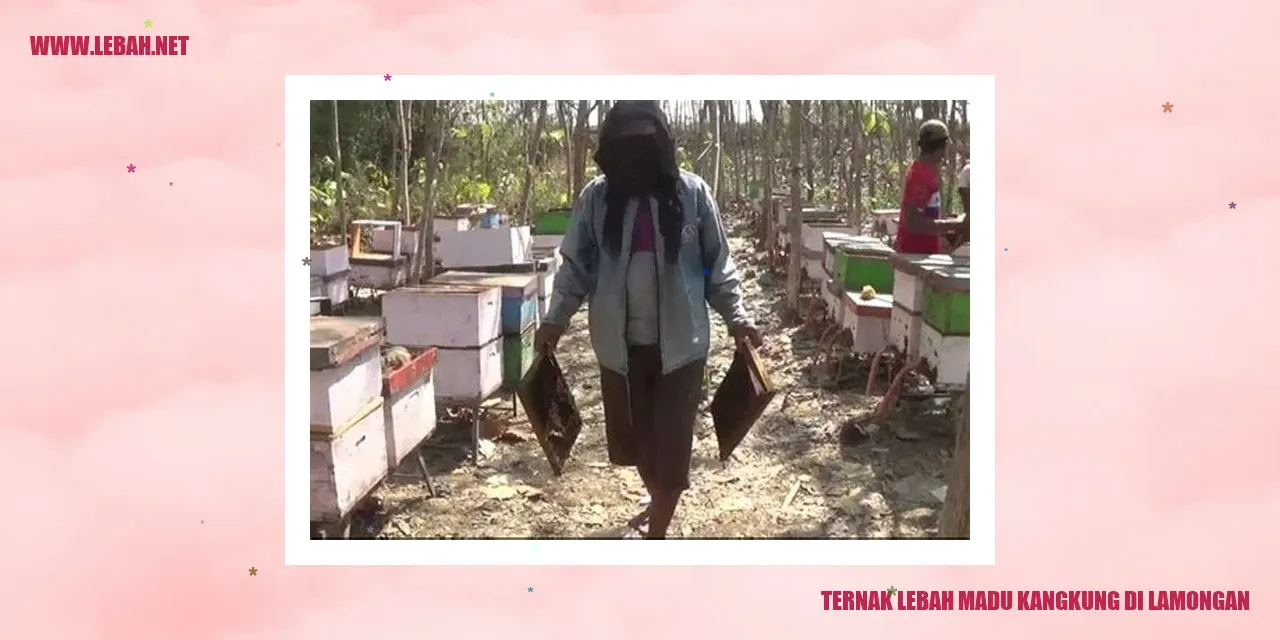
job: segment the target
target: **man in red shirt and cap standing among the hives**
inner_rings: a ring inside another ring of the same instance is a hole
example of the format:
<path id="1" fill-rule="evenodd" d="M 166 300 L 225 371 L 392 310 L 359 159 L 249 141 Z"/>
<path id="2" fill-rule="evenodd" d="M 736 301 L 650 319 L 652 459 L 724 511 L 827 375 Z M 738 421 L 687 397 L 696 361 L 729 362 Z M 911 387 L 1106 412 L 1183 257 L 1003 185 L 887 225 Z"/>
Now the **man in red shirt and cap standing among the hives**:
<path id="1" fill-rule="evenodd" d="M 902 209 L 899 212 L 897 241 L 900 253 L 941 253 L 942 236 L 959 232 L 964 219 L 942 219 L 942 180 L 940 168 L 946 157 L 950 134 L 938 120 L 920 124 L 916 137 L 919 155 L 906 172 Z"/>

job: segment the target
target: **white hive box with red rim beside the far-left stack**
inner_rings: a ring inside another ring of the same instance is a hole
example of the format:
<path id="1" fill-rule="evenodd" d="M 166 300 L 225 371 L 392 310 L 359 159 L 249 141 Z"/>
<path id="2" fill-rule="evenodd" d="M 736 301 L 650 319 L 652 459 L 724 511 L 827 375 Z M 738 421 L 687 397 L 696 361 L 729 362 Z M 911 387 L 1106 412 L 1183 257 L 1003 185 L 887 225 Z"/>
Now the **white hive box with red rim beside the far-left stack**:
<path id="1" fill-rule="evenodd" d="M 436 349 L 421 349 L 404 366 L 383 372 L 387 462 L 396 468 L 435 431 Z"/>

